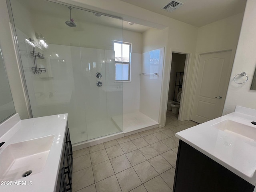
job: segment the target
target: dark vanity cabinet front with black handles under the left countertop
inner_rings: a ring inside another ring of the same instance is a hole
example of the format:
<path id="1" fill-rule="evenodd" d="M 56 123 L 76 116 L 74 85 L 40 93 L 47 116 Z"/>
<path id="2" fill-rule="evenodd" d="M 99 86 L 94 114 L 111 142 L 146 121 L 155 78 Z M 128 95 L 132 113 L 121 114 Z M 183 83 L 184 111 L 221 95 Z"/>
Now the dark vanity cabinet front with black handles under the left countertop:
<path id="1" fill-rule="evenodd" d="M 72 192 L 73 152 L 69 129 L 66 128 L 56 192 Z"/>

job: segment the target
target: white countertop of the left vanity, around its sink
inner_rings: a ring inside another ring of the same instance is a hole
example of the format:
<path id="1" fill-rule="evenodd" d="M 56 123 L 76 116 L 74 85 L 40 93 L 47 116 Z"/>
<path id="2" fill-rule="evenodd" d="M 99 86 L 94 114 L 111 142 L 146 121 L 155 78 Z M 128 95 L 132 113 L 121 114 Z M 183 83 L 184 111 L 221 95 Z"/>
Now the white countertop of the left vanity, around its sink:
<path id="1" fill-rule="evenodd" d="M 42 172 L 32 174 L 17 181 L 19 185 L 6 186 L 0 182 L 0 192 L 54 192 L 59 173 L 59 164 L 64 142 L 68 114 L 20 120 L 18 114 L 0 124 L 0 155 L 9 145 L 34 138 L 54 135 L 52 147 Z M 11 128 L 10 128 L 11 126 Z M 1 162 L 0 162 L 1 164 Z M 24 184 L 28 185 L 24 185 Z M 32 184 L 32 185 L 31 185 Z"/>

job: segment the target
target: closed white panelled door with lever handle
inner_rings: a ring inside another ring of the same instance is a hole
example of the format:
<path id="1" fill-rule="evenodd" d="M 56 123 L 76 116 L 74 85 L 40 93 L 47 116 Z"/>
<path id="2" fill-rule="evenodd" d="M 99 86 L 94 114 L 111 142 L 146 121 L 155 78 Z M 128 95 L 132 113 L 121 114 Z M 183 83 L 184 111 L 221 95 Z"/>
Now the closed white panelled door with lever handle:
<path id="1" fill-rule="evenodd" d="M 203 123 L 222 115 L 231 69 L 231 51 L 199 55 L 191 120 Z"/>

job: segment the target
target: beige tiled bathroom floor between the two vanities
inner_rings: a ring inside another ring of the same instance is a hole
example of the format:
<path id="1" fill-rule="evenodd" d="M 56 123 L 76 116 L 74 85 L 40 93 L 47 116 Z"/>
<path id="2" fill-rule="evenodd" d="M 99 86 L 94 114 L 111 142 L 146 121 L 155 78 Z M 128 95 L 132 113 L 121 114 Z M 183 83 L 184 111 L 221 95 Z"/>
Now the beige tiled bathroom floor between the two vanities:
<path id="1" fill-rule="evenodd" d="M 73 153 L 73 192 L 172 192 L 179 139 L 197 125 L 167 111 L 166 126 Z"/>

